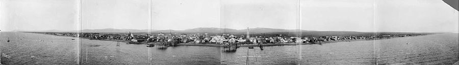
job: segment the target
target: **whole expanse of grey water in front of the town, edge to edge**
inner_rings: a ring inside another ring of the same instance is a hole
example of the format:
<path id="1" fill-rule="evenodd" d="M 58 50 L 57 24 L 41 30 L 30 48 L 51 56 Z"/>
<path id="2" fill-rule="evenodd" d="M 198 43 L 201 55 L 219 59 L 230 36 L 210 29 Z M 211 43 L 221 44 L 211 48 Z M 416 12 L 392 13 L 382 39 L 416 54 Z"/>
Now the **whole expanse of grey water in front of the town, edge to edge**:
<path id="1" fill-rule="evenodd" d="M 459 60 L 457 36 L 267 46 L 264 50 L 240 47 L 236 52 L 220 52 L 218 47 L 158 49 L 122 42 L 117 47 L 115 41 L 2 32 L 0 49 L 11 56 L 2 57 L 4 64 L 453 64 Z M 6 42 L 8 37 L 12 42 Z M 38 37 L 45 41 L 36 41 Z"/>

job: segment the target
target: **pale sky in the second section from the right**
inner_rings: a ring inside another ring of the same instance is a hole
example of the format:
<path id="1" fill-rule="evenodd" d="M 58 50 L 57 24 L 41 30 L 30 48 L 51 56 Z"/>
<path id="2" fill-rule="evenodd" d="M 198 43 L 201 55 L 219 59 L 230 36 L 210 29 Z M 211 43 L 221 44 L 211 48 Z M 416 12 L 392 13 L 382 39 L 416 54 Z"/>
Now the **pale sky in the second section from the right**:
<path id="1" fill-rule="evenodd" d="M 315 31 L 373 31 L 373 1 L 301 1 L 301 29 Z"/>

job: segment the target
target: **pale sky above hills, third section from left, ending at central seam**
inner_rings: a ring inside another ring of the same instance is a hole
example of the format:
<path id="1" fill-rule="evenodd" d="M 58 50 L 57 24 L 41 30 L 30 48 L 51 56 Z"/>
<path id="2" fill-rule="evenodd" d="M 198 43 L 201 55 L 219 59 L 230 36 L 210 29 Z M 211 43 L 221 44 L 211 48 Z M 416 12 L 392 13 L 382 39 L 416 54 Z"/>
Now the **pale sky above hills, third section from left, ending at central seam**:
<path id="1" fill-rule="evenodd" d="M 151 29 L 220 27 L 219 0 L 153 0 Z"/>

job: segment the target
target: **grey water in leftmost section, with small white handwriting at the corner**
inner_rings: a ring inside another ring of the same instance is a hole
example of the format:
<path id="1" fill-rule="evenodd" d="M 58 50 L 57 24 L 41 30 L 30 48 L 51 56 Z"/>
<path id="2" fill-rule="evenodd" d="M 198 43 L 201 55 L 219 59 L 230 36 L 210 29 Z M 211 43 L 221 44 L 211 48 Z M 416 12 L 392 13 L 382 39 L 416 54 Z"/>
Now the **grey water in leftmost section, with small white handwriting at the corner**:
<path id="1" fill-rule="evenodd" d="M 10 42 L 7 42 L 8 38 Z M 37 41 L 37 40 L 44 41 Z M 75 39 L 75 40 L 71 40 Z M 78 38 L 35 33 L 0 33 L 2 64 L 77 64 Z"/>

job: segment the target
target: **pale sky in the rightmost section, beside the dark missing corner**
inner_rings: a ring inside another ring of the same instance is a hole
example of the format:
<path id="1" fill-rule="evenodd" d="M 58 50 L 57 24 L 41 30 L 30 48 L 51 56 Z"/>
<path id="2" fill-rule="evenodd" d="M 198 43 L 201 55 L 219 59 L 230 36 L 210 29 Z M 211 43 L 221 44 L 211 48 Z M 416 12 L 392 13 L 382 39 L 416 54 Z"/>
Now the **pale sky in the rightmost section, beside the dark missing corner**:
<path id="1" fill-rule="evenodd" d="M 458 32 L 459 13 L 441 0 L 386 0 L 376 5 L 379 31 Z"/>

